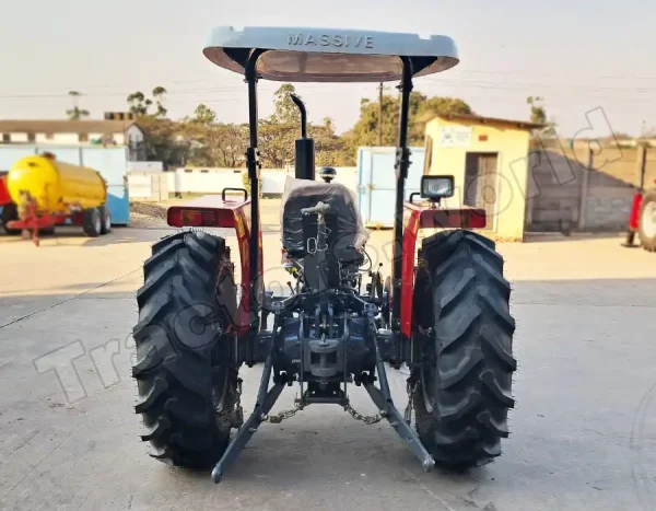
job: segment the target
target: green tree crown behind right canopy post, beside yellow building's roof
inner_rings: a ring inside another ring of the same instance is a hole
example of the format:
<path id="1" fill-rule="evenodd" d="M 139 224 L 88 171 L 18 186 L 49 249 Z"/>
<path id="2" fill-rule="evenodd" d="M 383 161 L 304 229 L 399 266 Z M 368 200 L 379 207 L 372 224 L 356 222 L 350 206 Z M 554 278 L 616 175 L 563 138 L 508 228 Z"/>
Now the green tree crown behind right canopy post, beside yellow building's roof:
<path id="1" fill-rule="evenodd" d="M 378 103 L 363 98 L 360 103 L 360 119 L 348 137 L 354 151 L 360 146 L 378 144 Z M 399 123 L 399 96 L 383 96 L 383 144 L 396 146 Z M 438 114 L 472 114 L 471 107 L 462 100 L 454 97 L 426 97 L 420 92 L 410 94 L 410 146 L 423 146 L 425 125 Z"/>

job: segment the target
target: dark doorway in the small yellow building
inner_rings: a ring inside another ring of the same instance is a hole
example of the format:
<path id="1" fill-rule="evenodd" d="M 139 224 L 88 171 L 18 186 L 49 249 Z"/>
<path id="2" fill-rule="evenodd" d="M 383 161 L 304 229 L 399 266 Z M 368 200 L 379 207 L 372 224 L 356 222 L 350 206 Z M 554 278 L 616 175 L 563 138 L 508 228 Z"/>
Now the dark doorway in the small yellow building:
<path id="1" fill-rule="evenodd" d="M 485 210 L 488 227 L 495 228 L 496 153 L 469 152 L 465 161 L 465 206 Z"/>

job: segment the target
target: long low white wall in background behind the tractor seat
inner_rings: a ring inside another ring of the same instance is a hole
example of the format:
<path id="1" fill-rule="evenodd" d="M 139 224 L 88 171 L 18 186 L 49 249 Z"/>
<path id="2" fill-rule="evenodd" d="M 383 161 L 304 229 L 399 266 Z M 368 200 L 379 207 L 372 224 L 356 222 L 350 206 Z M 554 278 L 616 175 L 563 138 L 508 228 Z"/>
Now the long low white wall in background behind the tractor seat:
<path id="1" fill-rule="evenodd" d="M 355 167 L 338 167 L 336 183 L 342 183 L 353 191 L 358 186 Z M 223 188 L 242 188 L 242 170 L 234 169 L 177 169 L 175 172 L 128 173 L 130 198 L 136 200 L 165 200 L 173 195 L 220 194 Z M 262 169 L 262 194 L 282 195 L 286 177 L 294 170 Z M 317 179 L 319 177 L 317 176 Z"/>

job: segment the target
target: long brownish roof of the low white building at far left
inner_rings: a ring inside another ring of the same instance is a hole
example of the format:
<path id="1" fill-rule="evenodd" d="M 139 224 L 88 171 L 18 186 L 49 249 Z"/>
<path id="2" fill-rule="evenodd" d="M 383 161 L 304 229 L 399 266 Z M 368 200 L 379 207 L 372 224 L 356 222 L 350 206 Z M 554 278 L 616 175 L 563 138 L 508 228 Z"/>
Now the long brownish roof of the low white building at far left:
<path id="1" fill-rule="evenodd" d="M 133 120 L 3 120 L 2 133 L 122 133 Z"/>

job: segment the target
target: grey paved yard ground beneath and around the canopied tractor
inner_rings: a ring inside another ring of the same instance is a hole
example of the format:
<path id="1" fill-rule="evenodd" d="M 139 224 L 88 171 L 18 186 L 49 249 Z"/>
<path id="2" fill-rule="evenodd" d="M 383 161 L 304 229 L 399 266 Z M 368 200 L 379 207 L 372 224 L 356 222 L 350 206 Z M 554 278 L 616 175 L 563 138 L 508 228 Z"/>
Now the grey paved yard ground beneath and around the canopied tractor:
<path id="1" fill-rule="evenodd" d="M 0 510 L 656 509 L 656 256 L 617 237 L 501 246 L 519 371 L 494 464 L 423 474 L 389 426 L 316 407 L 265 425 L 214 486 L 151 461 L 131 409 L 133 292 L 165 233 L 71 231 L 39 249 L 0 237 Z M 269 229 L 267 268 L 277 240 Z M 245 374 L 246 404 L 258 375 Z M 405 406 L 403 374 L 391 385 Z"/>

